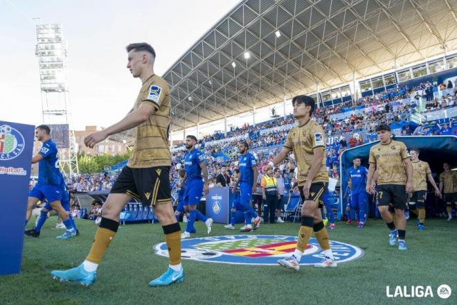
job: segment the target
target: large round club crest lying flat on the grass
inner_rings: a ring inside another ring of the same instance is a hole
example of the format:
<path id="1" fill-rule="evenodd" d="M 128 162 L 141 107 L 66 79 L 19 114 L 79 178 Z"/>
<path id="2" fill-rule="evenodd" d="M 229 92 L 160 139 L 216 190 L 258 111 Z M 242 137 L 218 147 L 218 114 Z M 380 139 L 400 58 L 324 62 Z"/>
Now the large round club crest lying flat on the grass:
<path id="1" fill-rule="evenodd" d="M 294 252 L 295 236 L 283 235 L 226 235 L 205 238 L 190 238 L 181 241 L 182 259 L 208 263 L 232 263 L 240 265 L 277 265 Z M 330 241 L 333 255 L 338 263 L 359 259 L 364 251 L 359 247 Z M 154 245 L 157 255 L 168 257 L 166 243 Z M 323 250 L 316 238 L 311 238 L 300 264 L 313 265 L 323 259 Z"/>

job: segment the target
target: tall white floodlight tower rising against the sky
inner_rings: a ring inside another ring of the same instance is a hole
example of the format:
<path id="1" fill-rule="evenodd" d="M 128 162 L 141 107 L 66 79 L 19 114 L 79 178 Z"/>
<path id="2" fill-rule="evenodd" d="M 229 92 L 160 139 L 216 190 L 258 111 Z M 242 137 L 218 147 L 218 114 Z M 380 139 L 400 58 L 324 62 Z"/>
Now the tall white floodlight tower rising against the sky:
<path id="1" fill-rule="evenodd" d="M 35 55 L 39 62 L 39 80 L 42 95 L 42 115 L 46 124 L 68 126 L 69 145 L 59 147 L 60 168 L 65 175 L 79 173 L 75 133 L 71 126 L 69 91 L 66 82 L 66 44 L 60 24 L 37 24 L 37 47 Z M 52 131 L 51 131 L 52 132 Z"/>

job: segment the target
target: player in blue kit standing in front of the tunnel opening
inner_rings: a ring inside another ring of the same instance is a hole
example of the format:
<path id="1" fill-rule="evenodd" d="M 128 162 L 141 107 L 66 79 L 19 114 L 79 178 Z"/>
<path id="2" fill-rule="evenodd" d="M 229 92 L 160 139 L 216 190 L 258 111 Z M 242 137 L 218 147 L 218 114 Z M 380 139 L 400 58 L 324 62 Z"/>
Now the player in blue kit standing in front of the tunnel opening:
<path id="1" fill-rule="evenodd" d="M 359 228 L 364 227 L 366 222 L 366 177 L 368 169 L 360 166 L 360 157 L 352 159 L 353 166 L 348 169 L 349 183 L 351 189 L 350 208 L 359 211 Z"/>

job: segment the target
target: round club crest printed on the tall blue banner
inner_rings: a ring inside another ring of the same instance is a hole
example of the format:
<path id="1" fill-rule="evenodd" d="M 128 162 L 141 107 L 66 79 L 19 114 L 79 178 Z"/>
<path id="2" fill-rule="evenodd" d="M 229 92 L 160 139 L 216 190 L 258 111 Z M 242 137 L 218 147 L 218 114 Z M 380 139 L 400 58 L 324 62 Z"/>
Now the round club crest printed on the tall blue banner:
<path id="1" fill-rule="evenodd" d="M 0 159 L 10 160 L 21 155 L 24 150 L 24 137 L 10 125 L 0 126 Z"/>

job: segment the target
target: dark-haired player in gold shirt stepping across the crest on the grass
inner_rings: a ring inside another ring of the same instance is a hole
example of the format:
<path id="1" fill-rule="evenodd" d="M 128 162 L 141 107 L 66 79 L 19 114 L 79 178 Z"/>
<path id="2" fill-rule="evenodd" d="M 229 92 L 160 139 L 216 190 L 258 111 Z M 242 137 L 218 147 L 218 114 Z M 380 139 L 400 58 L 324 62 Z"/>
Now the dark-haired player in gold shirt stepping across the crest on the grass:
<path id="1" fill-rule="evenodd" d="M 328 187 L 324 153 L 325 134 L 322 127 L 311 119 L 314 112 L 314 100 L 310 96 L 295 96 L 292 99 L 292 105 L 294 105 L 294 117 L 298 121 L 298 126 L 289 131 L 283 149 L 274 157 L 270 165 L 279 164 L 289 152 L 294 152 L 298 164 L 298 189 L 303 206 L 296 250 L 292 256 L 280 259 L 278 264 L 298 270 L 301 256 L 314 231 L 314 236 L 319 241 L 324 256 L 322 263 L 316 264 L 314 267 L 337 267 L 321 214 L 322 196 Z"/>

